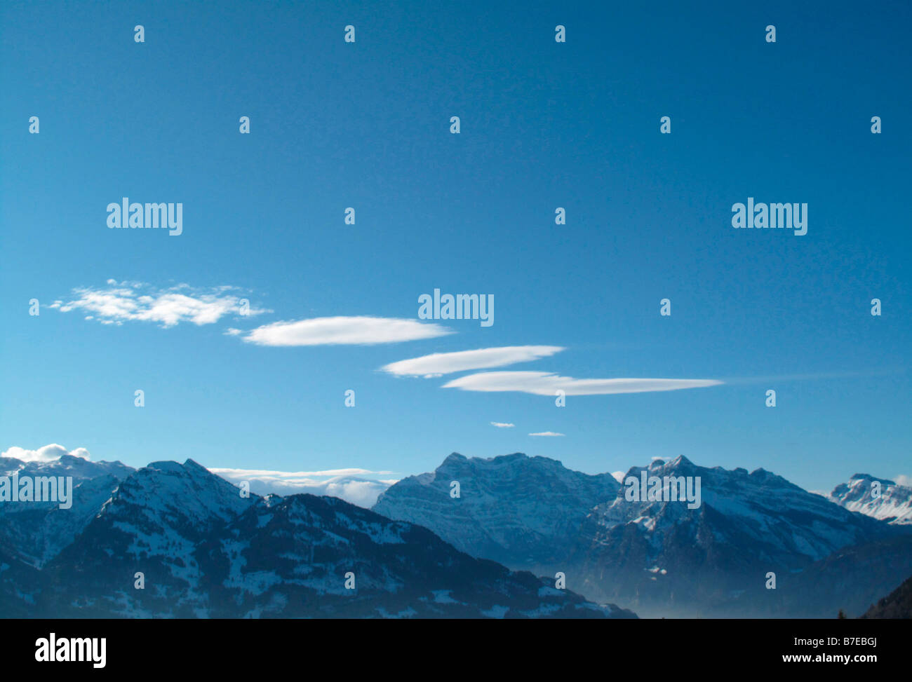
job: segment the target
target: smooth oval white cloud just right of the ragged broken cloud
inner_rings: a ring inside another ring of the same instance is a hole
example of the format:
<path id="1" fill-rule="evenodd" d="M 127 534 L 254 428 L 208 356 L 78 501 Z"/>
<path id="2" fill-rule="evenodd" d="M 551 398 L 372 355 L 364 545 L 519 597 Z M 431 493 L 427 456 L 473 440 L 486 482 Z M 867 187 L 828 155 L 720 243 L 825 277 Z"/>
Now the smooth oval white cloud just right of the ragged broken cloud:
<path id="1" fill-rule="evenodd" d="M 247 332 L 242 338 L 256 346 L 332 346 L 393 344 L 452 334 L 436 324 L 395 317 L 314 317 L 274 322 Z"/>

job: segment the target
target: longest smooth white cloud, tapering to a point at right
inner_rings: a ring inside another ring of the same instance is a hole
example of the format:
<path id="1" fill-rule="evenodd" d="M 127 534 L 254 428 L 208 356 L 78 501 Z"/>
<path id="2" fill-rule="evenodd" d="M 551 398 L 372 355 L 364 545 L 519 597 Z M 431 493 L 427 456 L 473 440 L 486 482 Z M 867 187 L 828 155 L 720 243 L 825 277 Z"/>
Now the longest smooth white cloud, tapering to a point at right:
<path id="1" fill-rule="evenodd" d="M 563 390 L 567 396 L 596 396 L 702 388 L 721 383 L 716 379 L 575 379 L 551 372 L 479 372 L 452 379 L 443 387 L 464 391 L 519 391 L 536 396 L 554 396 L 555 391 Z"/>

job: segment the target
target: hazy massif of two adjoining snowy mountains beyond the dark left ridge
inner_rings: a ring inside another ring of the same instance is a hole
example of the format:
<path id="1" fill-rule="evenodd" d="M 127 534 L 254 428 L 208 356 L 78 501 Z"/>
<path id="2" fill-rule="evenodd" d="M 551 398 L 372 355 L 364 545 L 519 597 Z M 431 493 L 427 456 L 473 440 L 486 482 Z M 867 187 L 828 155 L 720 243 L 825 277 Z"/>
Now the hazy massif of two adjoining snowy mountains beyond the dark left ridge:
<path id="1" fill-rule="evenodd" d="M 666 477 L 699 477 L 700 505 L 628 500 L 607 474 L 545 458 L 453 454 L 434 472 L 393 485 L 374 509 L 475 556 L 563 571 L 568 588 L 640 615 L 857 615 L 912 573 L 912 533 L 769 471 L 709 469 L 679 457 L 634 467 L 623 480 L 644 474 L 663 480 L 665 491 Z M 870 563 L 859 547 L 884 561 Z"/>

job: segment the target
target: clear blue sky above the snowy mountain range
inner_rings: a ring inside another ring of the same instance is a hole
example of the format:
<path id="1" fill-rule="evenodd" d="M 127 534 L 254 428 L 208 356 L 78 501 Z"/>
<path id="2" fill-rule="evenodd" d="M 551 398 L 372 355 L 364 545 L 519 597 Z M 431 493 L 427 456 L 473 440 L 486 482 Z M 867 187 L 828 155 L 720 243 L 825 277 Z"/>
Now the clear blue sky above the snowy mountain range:
<path id="1" fill-rule="evenodd" d="M 630 5 L 5 2 L 0 450 L 390 479 L 454 450 L 589 472 L 684 454 L 815 490 L 912 474 L 912 10 Z M 182 202 L 183 233 L 109 229 L 125 196 Z M 807 234 L 732 229 L 748 197 L 806 202 Z M 492 294 L 494 324 L 419 320 L 435 288 Z M 202 317 L 85 307 L 174 293 Z M 337 316 L 450 333 L 244 341 Z M 380 369 L 503 346 L 563 350 Z M 564 408 L 443 387 L 478 371 L 721 383 Z M 547 431 L 565 435 L 528 435 Z"/>

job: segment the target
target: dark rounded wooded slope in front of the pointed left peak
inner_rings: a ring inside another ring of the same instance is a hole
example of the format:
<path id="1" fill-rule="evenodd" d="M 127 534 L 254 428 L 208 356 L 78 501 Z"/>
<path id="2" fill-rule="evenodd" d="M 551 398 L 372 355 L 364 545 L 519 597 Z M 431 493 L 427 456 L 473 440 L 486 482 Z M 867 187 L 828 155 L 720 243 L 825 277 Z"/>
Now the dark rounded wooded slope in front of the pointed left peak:
<path id="1" fill-rule="evenodd" d="M 202 555 L 219 616 L 633 617 L 331 497 L 263 501 Z"/>

